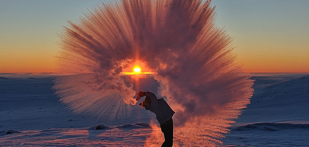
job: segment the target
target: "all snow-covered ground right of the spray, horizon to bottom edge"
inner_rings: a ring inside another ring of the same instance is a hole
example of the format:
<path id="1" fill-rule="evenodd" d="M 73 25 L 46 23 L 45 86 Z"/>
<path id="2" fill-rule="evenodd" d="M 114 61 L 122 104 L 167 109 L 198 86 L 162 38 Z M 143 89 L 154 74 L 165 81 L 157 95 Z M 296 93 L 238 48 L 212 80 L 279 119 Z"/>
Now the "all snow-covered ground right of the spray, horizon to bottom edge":
<path id="1" fill-rule="evenodd" d="M 251 104 L 236 120 L 224 144 L 308 146 L 309 75 L 255 74 Z"/>

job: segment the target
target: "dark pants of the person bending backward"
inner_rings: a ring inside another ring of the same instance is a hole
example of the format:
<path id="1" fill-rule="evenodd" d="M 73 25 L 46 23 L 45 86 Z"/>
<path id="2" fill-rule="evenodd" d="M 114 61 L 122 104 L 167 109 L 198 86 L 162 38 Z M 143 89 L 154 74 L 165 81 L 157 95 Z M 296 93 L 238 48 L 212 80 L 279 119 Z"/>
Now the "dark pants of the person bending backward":
<path id="1" fill-rule="evenodd" d="M 165 139 L 162 146 L 173 146 L 173 119 L 171 118 L 164 124 L 160 125 L 160 128 Z"/>

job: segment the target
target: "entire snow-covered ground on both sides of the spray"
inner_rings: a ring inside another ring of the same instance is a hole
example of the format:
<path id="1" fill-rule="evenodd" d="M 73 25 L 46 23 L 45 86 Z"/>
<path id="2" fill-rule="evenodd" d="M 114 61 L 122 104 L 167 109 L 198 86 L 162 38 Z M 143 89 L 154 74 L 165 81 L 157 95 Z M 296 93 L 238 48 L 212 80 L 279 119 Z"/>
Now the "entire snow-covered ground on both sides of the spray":
<path id="1" fill-rule="evenodd" d="M 221 139 L 223 144 L 309 145 L 309 75 L 253 76 L 256 81 L 251 104 Z M 156 81 L 141 80 L 147 83 L 139 85 L 141 90 L 157 91 Z M 52 78 L 0 78 L 0 146 L 161 145 L 163 135 L 155 115 L 140 106 L 134 107 L 131 118 L 113 122 L 74 115 L 58 101 L 52 86 Z M 151 132 L 158 132 L 158 136 L 151 136 L 156 134 Z"/>

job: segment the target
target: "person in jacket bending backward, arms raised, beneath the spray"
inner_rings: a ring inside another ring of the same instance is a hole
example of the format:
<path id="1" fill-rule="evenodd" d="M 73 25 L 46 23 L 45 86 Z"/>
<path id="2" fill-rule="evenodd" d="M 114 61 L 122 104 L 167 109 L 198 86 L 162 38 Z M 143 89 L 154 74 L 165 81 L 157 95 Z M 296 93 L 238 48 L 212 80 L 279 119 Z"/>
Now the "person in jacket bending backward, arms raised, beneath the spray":
<path id="1" fill-rule="evenodd" d="M 160 123 L 160 128 L 165 139 L 162 146 L 173 146 L 174 127 L 172 117 L 175 112 L 163 98 L 158 99 L 154 93 L 149 91 L 139 91 L 137 93 L 136 101 L 143 96 L 146 96 L 146 98 L 139 105 L 156 114 L 156 118 Z"/>

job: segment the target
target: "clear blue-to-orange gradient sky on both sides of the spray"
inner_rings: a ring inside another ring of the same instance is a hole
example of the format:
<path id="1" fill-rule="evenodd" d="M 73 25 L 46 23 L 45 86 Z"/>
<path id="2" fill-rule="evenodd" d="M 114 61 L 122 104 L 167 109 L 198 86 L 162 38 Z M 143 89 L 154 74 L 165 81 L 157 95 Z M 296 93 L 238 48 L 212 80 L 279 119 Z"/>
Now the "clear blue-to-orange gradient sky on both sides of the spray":
<path id="1" fill-rule="evenodd" d="M 104 2 L 104 0 L 102 0 Z M 101 1 L 0 1 L 0 72 L 53 72 L 57 33 Z M 309 1 L 218 1 L 247 72 L 309 72 Z"/>

